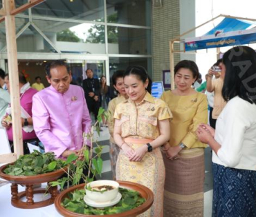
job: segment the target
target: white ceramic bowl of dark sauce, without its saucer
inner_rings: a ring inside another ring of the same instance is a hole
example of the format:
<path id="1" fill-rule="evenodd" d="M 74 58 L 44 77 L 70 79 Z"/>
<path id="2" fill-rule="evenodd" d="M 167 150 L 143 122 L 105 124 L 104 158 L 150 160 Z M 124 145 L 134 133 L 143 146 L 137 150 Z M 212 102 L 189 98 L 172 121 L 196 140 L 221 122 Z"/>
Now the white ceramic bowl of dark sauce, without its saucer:
<path id="1" fill-rule="evenodd" d="M 96 187 L 96 186 L 101 186 L 101 185 L 111 185 L 115 187 L 115 189 L 106 191 L 106 192 L 91 192 L 86 187 Z M 118 188 L 119 188 L 119 183 L 113 181 L 113 180 L 97 180 L 91 183 L 88 183 L 85 187 L 85 192 L 86 196 L 89 198 L 89 200 L 93 200 L 97 203 L 104 203 L 110 200 L 113 200 L 118 196 Z"/>

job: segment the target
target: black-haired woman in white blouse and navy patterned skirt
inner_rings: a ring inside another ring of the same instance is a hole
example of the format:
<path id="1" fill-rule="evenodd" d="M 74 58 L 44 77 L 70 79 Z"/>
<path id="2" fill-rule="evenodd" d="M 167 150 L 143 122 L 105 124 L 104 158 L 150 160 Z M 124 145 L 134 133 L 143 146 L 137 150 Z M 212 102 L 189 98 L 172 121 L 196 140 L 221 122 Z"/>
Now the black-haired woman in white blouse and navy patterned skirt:
<path id="1" fill-rule="evenodd" d="M 256 216 L 256 52 L 238 46 L 223 55 L 222 95 L 228 101 L 216 130 L 198 127 L 214 176 L 212 216 Z"/>

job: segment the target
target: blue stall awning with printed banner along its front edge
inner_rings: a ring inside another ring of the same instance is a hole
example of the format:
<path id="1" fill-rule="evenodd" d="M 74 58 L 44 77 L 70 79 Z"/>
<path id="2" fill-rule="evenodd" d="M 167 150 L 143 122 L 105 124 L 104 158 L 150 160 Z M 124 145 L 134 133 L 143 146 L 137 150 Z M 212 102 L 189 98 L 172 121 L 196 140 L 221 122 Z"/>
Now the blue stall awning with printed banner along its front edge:
<path id="1" fill-rule="evenodd" d="M 201 37 L 185 39 L 185 51 L 256 43 L 255 22 L 225 18 Z M 248 29 L 250 28 L 250 29 Z"/>

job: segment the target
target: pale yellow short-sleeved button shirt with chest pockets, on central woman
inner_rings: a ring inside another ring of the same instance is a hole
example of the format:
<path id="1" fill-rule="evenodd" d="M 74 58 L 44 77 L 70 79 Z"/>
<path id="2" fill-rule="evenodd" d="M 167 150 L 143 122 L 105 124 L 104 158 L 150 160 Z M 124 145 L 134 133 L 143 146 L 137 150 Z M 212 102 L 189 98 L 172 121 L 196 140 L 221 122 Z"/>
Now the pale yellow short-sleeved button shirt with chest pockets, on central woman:
<path id="1" fill-rule="evenodd" d="M 160 135 L 158 121 L 172 118 L 172 113 L 164 101 L 147 92 L 137 105 L 130 99 L 118 104 L 113 117 L 120 120 L 118 125 L 121 126 L 122 138 L 155 139 Z"/>

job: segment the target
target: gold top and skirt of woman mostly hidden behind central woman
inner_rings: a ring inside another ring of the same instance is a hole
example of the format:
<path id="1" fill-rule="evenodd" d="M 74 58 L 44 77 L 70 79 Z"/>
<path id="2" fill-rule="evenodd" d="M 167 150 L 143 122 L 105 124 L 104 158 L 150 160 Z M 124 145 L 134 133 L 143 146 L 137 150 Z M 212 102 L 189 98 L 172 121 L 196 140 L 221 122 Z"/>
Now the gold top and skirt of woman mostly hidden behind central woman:
<path id="1" fill-rule="evenodd" d="M 119 94 L 116 98 L 112 99 L 108 105 L 107 124 L 109 125 L 109 134 L 110 134 L 109 156 L 111 161 L 111 171 L 112 171 L 113 180 L 116 180 L 116 161 L 118 160 L 118 154 L 120 151 L 120 148 L 118 147 L 118 145 L 116 145 L 115 141 L 113 141 L 113 127 L 115 124 L 115 119 L 113 118 L 113 115 L 115 114 L 116 105 L 118 105 L 122 101 L 125 101 L 125 97 Z"/>

